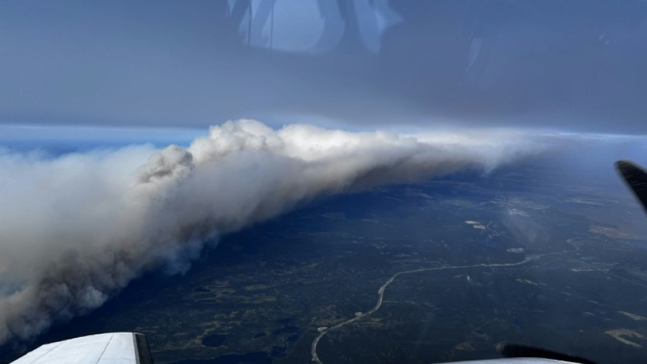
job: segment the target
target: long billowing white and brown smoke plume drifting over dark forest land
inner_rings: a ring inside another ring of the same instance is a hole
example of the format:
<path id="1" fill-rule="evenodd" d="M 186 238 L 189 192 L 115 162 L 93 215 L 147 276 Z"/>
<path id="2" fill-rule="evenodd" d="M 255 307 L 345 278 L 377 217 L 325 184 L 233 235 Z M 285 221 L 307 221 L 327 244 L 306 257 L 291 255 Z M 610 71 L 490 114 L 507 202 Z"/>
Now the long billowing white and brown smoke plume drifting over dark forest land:
<path id="1" fill-rule="evenodd" d="M 208 239 L 321 195 L 489 170 L 519 133 L 399 136 L 239 120 L 171 145 L 0 155 L 0 343 L 101 306 L 142 271 L 189 267 Z"/>

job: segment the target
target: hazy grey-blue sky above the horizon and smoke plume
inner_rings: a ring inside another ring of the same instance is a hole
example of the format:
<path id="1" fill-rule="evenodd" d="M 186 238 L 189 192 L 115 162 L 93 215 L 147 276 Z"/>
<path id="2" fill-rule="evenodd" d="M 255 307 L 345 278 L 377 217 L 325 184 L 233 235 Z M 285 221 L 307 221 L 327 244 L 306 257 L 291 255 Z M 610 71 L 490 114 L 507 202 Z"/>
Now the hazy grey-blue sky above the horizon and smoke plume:
<path id="1" fill-rule="evenodd" d="M 647 133 L 644 1 L 249 4 L 4 0 L 0 123 Z"/>

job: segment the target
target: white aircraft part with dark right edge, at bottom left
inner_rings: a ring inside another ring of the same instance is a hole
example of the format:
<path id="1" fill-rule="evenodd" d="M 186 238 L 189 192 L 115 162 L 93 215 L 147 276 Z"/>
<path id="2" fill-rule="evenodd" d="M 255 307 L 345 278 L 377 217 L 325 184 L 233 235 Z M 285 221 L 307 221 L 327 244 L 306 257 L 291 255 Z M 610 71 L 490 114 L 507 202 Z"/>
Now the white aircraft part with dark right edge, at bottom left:
<path id="1" fill-rule="evenodd" d="M 146 336 L 109 332 L 38 347 L 11 364 L 153 364 Z"/>

